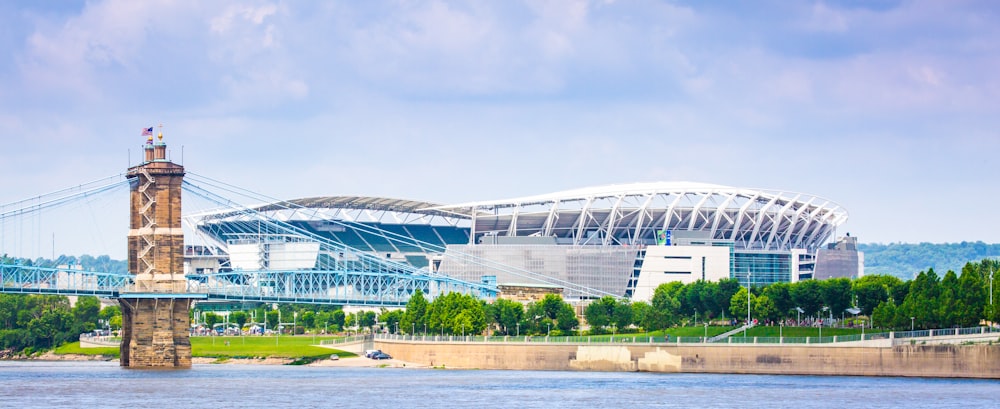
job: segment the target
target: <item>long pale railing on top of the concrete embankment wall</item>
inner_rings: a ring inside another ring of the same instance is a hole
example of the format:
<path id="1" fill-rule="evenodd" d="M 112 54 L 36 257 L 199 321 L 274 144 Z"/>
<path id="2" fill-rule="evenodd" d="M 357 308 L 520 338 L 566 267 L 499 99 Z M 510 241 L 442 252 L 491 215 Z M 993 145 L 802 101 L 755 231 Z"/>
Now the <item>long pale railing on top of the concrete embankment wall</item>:
<path id="1" fill-rule="evenodd" d="M 834 335 L 826 337 L 728 337 L 721 341 L 716 341 L 716 337 L 653 337 L 638 335 L 615 335 L 615 336 L 558 336 L 549 337 L 545 335 L 520 335 L 520 336 L 491 336 L 480 335 L 397 335 L 397 334 L 375 334 L 375 340 L 385 341 L 408 341 L 408 342 L 468 342 L 468 343 L 531 343 L 531 344 L 838 344 L 847 342 L 863 342 L 877 340 L 929 340 L 934 337 L 961 336 L 978 334 L 1000 334 L 1000 329 L 993 327 L 970 327 L 970 328 L 947 328 L 920 331 L 895 331 L 876 332 L 869 334 Z M 327 341 L 324 341 L 326 343 Z"/>

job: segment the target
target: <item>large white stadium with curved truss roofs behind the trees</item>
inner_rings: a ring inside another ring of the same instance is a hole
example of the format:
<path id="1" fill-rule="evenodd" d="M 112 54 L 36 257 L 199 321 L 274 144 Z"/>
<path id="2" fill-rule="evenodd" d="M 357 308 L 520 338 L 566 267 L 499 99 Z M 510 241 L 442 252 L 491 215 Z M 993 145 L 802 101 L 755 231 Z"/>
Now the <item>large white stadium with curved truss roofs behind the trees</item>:
<path id="1" fill-rule="evenodd" d="M 670 281 L 764 285 L 863 273 L 854 237 L 831 242 L 847 211 L 795 192 L 657 182 L 450 205 L 315 197 L 256 210 L 389 260 L 470 282 L 556 286 L 567 299 L 649 300 Z M 276 238 L 231 213 L 188 222 L 221 261 L 189 263 L 190 272 L 312 268 L 323 257 L 314 239 Z M 275 245 L 263 251 L 265 241 Z"/>

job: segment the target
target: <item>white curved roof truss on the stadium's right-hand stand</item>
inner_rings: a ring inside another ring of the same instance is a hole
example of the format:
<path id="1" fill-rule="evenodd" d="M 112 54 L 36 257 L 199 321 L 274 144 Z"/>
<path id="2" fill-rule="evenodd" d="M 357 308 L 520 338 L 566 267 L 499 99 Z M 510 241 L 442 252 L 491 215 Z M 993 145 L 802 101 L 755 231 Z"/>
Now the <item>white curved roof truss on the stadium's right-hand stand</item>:
<path id="1" fill-rule="evenodd" d="M 574 245 L 655 243 L 659 230 L 706 231 L 737 249 L 815 249 L 847 220 L 804 193 L 689 182 L 636 183 L 436 206 L 473 220 L 473 236 L 556 237 Z"/>

